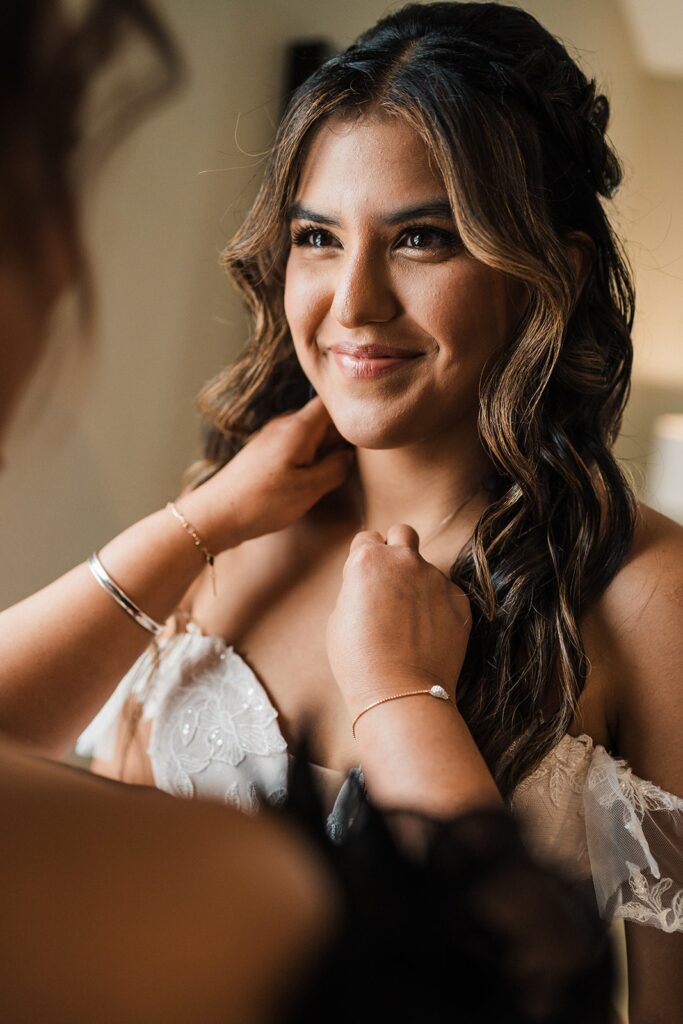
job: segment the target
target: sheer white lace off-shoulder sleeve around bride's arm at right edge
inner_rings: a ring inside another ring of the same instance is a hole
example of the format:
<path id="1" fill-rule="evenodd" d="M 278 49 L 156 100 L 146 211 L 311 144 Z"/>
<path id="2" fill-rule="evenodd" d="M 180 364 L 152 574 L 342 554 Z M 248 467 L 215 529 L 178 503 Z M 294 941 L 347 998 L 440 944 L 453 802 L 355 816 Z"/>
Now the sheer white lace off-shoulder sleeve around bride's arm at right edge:
<path id="1" fill-rule="evenodd" d="M 683 800 L 598 746 L 584 807 L 600 912 L 683 932 Z"/>

